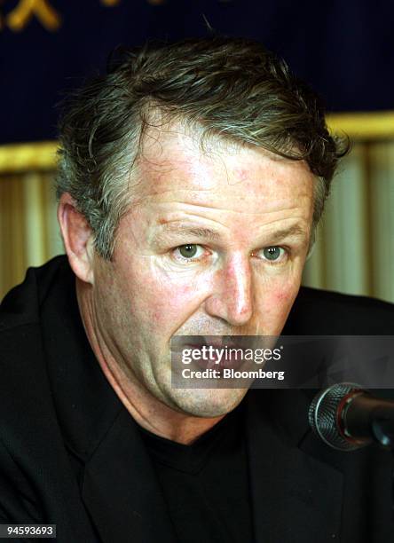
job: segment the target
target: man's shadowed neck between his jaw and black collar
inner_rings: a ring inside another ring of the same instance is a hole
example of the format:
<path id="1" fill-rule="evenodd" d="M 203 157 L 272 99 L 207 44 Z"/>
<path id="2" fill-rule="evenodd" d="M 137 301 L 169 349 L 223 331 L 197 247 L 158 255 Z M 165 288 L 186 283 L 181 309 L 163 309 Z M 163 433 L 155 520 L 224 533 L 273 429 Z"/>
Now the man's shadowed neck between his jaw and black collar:
<path id="1" fill-rule="evenodd" d="M 182 413 L 154 397 L 135 374 L 123 369 L 126 366 L 122 361 L 120 363 L 122 357 L 113 354 L 99 334 L 94 319 L 91 287 L 77 279 L 76 295 L 83 327 L 98 364 L 122 404 L 142 428 L 171 441 L 190 445 L 223 419 L 225 415 L 204 418 Z"/>

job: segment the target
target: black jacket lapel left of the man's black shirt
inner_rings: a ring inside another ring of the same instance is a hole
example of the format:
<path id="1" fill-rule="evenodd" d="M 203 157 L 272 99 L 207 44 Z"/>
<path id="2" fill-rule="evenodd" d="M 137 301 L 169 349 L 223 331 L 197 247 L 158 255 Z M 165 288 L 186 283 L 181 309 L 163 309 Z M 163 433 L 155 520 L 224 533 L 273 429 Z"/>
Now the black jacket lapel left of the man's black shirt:
<path id="1" fill-rule="evenodd" d="M 176 541 L 154 467 L 125 409 L 85 465 L 83 502 L 103 543 Z"/>

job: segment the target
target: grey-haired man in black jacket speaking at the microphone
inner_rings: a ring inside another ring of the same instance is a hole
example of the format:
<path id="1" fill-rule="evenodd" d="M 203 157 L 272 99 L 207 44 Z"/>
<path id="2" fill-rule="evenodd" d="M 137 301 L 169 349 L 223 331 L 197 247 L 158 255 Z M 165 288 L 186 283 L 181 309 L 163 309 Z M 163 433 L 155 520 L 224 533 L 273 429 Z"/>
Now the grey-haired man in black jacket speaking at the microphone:
<path id="1" fill-rule="evenodd" d="M 320 444 L 303 391 L 171 386 L 174 335 L 392 333 L 390 304 L 297 297 L 344 152 L 246 40 L 124 51 L 75 93 L 67 260 L 2 308 L 2 523 L 67 543 L 390 537 L 390 454 Z"/>

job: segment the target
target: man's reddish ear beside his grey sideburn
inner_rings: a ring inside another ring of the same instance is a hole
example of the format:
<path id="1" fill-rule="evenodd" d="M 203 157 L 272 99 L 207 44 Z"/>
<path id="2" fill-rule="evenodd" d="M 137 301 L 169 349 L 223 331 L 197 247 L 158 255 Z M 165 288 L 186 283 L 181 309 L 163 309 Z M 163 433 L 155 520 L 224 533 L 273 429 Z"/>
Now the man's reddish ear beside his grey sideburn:
<path id="1" fill-rule="evenodd" d="M 93 232 L 83 214 L 76 209 L 75 201 L 69 193 L 63 193 L 60 197 L 58 220 L 71 268 L 76 277 L 92 285 Z"/>

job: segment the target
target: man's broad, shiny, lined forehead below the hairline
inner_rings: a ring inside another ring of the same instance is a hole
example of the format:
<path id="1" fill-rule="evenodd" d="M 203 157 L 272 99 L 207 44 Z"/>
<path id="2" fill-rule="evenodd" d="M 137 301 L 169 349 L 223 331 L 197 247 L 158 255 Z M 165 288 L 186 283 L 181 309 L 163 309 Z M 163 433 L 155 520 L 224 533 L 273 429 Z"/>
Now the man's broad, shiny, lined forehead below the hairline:
<path id="1" fill-rule="evenodd" d="M 201 129 L 181 122 L 146 131 L 138 177 L 139 195 L 148 200 L 225 201 L 229 209 L 248 201 L 267 211 L 282 201 L 310 201 L 314 184 L 304 161 L 225 138 L 202 138 Z"/>

